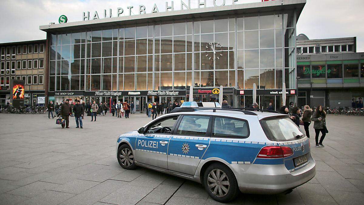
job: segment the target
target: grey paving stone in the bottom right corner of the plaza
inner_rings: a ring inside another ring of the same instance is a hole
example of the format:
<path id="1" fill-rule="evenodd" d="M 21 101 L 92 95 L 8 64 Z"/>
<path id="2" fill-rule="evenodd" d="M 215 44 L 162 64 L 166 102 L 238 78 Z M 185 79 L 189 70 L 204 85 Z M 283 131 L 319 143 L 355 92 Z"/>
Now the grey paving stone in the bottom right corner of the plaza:
<path id="1" fill-rule="evenodd" d="M 361 205 L 364 201 L 364 193 L 344 192 L 339 190 L 327 190 L 339 204 Z"/>

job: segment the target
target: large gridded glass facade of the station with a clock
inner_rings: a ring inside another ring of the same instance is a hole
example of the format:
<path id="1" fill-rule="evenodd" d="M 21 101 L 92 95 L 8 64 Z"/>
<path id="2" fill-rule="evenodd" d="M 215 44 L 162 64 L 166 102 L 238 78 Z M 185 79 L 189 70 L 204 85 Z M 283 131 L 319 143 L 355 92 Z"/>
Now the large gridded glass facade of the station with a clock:
<path id="1" fill-rule="evenodd" d="M 49 90 L 296 89 L 295 27 L 284 11 L 51 34 Z"/>

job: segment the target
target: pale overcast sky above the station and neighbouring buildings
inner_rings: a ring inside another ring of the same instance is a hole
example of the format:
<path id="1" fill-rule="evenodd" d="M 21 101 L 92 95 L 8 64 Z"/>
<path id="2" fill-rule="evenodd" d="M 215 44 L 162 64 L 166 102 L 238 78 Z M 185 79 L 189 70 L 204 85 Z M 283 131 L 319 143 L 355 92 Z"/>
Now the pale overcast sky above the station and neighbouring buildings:
<path id="1" fill-rule="evenodd" d="M 233 0 L 225 0 L 226 5 Z M 261 0 L 238 0 L 238 4 L 260 2 Z M 40 25 L 58 23 L 60 15 L 66 15 L 68 22 L 82 20 L 82 13 L 97 11 L 103 18 L 103 9 L 111 8 L 114 16 L 116 8 L 133 6 L 138 14 L 138 6 L 143 4 L 150 13 L 153 3 L 159 12 L 165 11 L 166 0 L 0 0 L 0 43 L 45 39 L 46 33 L 39 30 Z M 168 1 L 171 2 L 170 0 Z M 187 0 L 184 0 L 187 3 Z M 191 7 L 197 8 L 198 0 L 191 0 Z M 213 6 L 212 0 L 206 0 Z M 221 4 L 222 0 L 217 0 Z M 180 0 L 174 0 L 175 10 L 180 9 Z M 357 37 L 357 52 L 364 52 L 363 26 L 364 0 L 307 0 L 297 23 L 297 35 L 304 33 L 310 39 Z"/>

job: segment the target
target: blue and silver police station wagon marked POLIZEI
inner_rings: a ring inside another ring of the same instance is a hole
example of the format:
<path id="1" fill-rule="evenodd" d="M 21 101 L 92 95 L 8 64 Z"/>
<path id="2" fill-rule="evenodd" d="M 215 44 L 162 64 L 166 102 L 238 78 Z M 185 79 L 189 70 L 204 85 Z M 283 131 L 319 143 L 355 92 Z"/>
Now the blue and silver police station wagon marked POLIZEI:
<path id="1" fill-rule="evenodd" d="M 233 200 L 239 191 L 289 193 L 314 177 L 309 140 L 288 115 L 210 105 L 185 102 L 120 135 L 120 166 L 202 183 L 219 202 Z"/>

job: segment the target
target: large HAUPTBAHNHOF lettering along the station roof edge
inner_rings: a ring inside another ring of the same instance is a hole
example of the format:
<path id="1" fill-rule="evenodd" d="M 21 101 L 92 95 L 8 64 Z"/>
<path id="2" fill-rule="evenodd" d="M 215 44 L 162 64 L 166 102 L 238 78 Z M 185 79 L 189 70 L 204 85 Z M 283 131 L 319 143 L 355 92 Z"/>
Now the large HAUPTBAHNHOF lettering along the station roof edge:
<path id="1" fill-rule="evenodd" d="M 201 7 L 206 7 L 206 0 L 197 0 L 198 3 L 198 8 L 201 8 Z M 232 1 L 232 5 L 235 5 L 236 2 L 238 0 L 230 0 Z M 214 7 L 219 7 L 219 6 L 224 6 L 225 5 L 225 0 L 213 0 L 213 5 Z M 132 11 L 132 9 L 134 8 L 133 6 L 128 6 L 126 7 L 127 8 L 127 12 L 128 12 L 128 16 L 131 16 L 131 13 L 134 13 Z M 191 0 L 188 0 L 187 3 L 185 3 L 185 1 L 182 1 L 181 0 L 181 10 L 183 9 L 191 9 Z M 148 9 L 149 10 L 149 9 Z M 145 7 L 145 5 L 139 5 L 139 7 L 137 8 L 136 12 L 139 14 L 139 15 L 142 15 L 142 14 L 146 14 L 147 13 L 147 8 Z M 159 13 L 159 9 L 157 7 L 157 4 L 154 4 L 153 7 L 151 8 L 151 10 L 149 10 L 150 13 Z M 174 11 L 174 4 L 173 4 L 173 1 L 171 1 L 170 3 L 166 2 L 166 8 L 165 8 L 165 12 L 168 12 L 168 11 Z M 120 17 L 120 16 L 123 16 L 124 14 L 124 9 L 121 8 L 121 7 L 118 7 L 116 8 L 116 12 L 114 10 L 114 15 L 111 8 L 109 9 L 104 9 L 104 12 L 103 12 L 103 17 L 104 18 L 112 18 L 112 17 Z M 94 12 L 94 15 L 90 16 L 90 12 L 87 11 L 87 12 L 83 12 L 83 15 L 82 15 L 82 20 L 95 20 L 95 19 L 99 19 L 99 14 L 97 11 Z"/>

